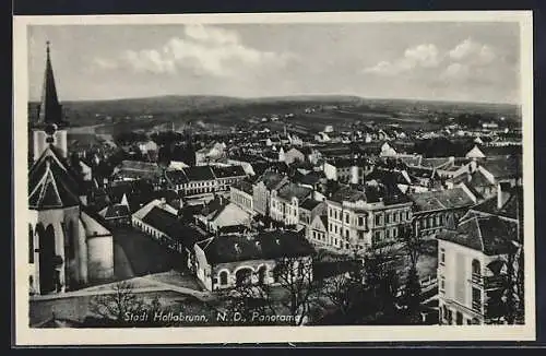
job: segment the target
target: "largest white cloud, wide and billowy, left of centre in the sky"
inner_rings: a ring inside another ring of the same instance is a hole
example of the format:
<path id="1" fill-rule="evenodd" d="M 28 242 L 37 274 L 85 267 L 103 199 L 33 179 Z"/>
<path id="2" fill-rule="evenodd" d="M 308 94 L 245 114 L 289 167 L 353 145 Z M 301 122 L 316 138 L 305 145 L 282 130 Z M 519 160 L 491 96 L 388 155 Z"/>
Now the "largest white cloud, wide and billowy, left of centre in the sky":
<path id="1" fill-rule="evenodd" d="M 171 37 L 158 48 L 126 50 L 116 59 L 95 60 L 102 69 L 128 67 L 134 72 L 176 73 L 190 69 L 198 74 L 230 76 L 242 70 L 283 67 L 295 56 L 262 51 L 245 46 L 234 31 L 221 27 L 188 25 L 182 36 Z"/>

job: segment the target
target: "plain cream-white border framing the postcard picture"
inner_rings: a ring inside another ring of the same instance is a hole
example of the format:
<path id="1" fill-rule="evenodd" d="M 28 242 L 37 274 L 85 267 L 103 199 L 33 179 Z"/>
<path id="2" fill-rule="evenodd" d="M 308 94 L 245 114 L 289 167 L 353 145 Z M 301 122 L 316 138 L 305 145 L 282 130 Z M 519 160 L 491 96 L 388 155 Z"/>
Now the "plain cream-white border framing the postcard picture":
<path id="1" fill-rule="evenodd" d="M 175 23 L 341 23 L 341 22 L 519 22 L 523 116 L 525 325 L 432 327 L 207 327 L 157 329 L 31 329 L 26 269 L 27 235 L 27 25 L 175 24 Z M 334 12 L 187 15 L 14 16 L 14 237 L 15 344 L 114 345 L 361 341 L 534 341 L 534 162 L 533 25 L 531 11 Z"/>

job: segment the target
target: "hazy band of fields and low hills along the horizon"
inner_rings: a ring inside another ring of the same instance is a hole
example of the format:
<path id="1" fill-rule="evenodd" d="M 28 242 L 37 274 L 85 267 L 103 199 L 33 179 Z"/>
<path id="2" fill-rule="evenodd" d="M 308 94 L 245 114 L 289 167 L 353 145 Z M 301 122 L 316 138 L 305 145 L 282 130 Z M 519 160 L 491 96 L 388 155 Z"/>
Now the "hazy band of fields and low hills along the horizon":
<path id="1" fill-rule="evenodd" d="M 29 103 L 28 115 L 35 120 L 37 103 Z M 316 132 L 325 124 L 346 130 L 356 122 L 402 128 L 437 129 L 429 123 L 436 115 L 484 112 L 489 116 L 518 116 L 518 107 L 498 104 L 436 103 L 394 99 L 364 99 L 355 96 L 294 96 L 237 98 L 225 96 L 162 96 L 100 102 L 62 103 L 72 133 L 116 134 L 122 131 L 180 131 L 191 126 L 201 131 L 222 131 L 232 127 L 263 128 L 282 131 L 281 120 L 296 131 Z M 262 118 L 277 116 L 277 122 Z"/>

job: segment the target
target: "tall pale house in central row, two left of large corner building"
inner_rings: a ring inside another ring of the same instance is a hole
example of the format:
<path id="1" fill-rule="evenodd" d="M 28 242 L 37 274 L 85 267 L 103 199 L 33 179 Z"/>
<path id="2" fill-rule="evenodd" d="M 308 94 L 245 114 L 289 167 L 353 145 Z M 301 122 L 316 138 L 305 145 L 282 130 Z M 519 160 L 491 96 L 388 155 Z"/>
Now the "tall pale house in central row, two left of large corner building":
<path id="1" fill-rule="evenodd" d="M 299 206 L 312 194 L 306 187 L 288 182 L 278 190 L 271 191 L 271 218 L 285 225 L 298 225 Z"/>

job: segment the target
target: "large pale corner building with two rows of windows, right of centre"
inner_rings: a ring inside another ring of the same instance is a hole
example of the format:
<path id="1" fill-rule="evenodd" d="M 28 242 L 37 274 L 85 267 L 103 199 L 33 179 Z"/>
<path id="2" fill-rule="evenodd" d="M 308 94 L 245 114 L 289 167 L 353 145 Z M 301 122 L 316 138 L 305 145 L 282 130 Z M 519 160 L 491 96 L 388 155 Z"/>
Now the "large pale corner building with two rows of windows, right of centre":
<path id="1" fill-rule="evenodd" d="M 342 250 L 365 250 L 396 241 L 412 222 L 413 202 L 395 185 L 342 187 L 327 200 L 328 234 Z"/>

